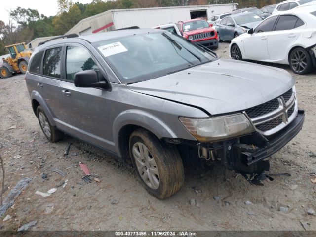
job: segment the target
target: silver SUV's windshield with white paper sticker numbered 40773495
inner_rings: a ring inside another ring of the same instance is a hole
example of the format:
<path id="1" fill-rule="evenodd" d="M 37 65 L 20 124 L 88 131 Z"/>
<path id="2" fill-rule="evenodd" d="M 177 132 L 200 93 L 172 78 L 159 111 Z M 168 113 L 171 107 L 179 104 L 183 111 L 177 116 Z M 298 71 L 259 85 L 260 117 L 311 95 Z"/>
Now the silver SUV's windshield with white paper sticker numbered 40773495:
<path id="1" fill-rule="evenodd" d="M 169 32 L 138 34 L 92 44 L 122 83 L 162 77 L 217 59 L 215 54 Z"/>

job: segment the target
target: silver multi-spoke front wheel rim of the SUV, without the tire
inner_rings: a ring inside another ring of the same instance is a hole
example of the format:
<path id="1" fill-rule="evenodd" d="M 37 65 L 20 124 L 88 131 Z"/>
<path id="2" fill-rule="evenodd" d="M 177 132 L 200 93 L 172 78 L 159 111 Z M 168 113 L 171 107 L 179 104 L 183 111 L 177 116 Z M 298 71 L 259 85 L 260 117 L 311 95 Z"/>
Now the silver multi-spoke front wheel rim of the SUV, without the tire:
<path id="1" fill-rule="evenodd" d="M 132 152 L 138 172 L 143 181 L 148 187 L 158 189 L 160 184 L 158 167 L 149 149 L 144 143 L 136 142 L 133 145 Z"/>

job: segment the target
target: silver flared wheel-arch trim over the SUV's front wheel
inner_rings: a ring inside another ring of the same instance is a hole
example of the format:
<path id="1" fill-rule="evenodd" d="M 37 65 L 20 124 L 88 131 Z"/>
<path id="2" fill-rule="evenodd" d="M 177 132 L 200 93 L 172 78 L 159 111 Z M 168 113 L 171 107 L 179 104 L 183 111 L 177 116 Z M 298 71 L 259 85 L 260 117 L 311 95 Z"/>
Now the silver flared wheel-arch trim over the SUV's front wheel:
<path id="1" fill-rule="evenodd" d="M 120 113 L 113 123 L 113 140 L 118 149 L 118 134 L 119 131 L 126 125 L 136 125 L 147 129 L 157 136 L 159 139 L 163 137 L 177 138 L 171 128 L 161 119 L 153 114 L 141 110 L 127 110 Z"/>

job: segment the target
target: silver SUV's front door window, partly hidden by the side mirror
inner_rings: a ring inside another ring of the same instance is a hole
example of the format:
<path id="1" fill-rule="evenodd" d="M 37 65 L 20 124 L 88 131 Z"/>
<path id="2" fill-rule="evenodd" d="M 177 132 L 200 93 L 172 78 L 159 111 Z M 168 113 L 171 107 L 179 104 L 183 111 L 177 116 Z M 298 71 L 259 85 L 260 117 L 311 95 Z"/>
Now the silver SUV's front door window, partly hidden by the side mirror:
<path id="1" fill-rule="evenodd" d="M 81 47 L 68 46 L 66 54 L 67 80 L 74 81 L 75 74 L 85 70 L 98 71 L 90 53 Z"/>

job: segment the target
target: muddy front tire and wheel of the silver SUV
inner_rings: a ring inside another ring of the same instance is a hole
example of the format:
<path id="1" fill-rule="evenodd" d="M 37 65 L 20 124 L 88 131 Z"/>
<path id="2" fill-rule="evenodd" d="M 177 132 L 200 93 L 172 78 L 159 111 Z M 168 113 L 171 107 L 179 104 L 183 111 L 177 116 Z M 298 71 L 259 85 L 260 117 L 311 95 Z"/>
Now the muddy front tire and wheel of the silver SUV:
<path id="1" fill-rule="evenodd" d="M 144 151 L 146 154 L 146 149 L 147 156 L 142 155 Z M 184 168 L 176 148 L 139 128 L 129 138 L 129 154 L 137 177 L 150 194 L 164 199 L 180 190 L 184 183 Z"/>

